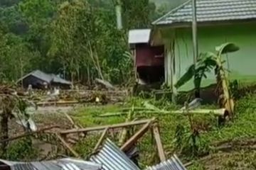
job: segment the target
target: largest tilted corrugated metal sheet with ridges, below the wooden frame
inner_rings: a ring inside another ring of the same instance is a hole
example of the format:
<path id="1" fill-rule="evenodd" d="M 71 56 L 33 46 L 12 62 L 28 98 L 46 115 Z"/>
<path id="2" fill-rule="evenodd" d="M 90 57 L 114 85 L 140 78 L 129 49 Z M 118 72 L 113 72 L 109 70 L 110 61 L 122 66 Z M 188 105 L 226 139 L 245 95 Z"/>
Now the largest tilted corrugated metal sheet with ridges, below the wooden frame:
<path id="1" fill-rule="evenodd" d="M 139 170 L 139 167 L 109 139 L 107 139 L 100 152 L 92 156 L 90 160 L 102 164 L 104 170 Z"/>

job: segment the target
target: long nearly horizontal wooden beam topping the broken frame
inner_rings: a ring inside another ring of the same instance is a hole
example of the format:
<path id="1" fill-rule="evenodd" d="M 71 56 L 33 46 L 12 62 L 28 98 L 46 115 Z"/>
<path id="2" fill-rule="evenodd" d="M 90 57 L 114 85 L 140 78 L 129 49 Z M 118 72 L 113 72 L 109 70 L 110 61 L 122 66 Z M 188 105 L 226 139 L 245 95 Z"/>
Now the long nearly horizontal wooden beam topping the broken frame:
<path id="1" fill-rule="evenodd" d="M 114 128 L 125 128 L 129 126 L 134 126 L 134 125 L 143 125 L 151 121 L 152 119 L 146 119 L 146 120 L 138 120 L 130 123 L 119 123 L 115 125 L 102 125 L 102 126 L 97 126 L 97 127 L 92 127 L 92 128 L 82 128 L 82 129 L 73 129 L 73 130 L 63 130 L 60 132 L 60 134 L 70 134 L 70 133 L 77 133 L 77 132 L 92 132 L 92 131 L 99 131 L 99 130 L 105 130 L 106 128 L 109 129 L 114 129 Z"/>

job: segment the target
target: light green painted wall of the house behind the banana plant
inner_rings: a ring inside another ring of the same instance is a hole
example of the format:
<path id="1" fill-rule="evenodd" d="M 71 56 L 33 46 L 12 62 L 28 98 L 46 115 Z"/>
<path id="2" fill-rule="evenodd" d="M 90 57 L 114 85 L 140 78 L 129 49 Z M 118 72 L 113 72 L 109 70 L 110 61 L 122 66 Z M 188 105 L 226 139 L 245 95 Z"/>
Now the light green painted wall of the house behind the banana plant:
<path id="1" fill-rule="evenodd" d="M 181 77 L 193 63 L 193 45 L 191 28 L 176 29 L 176 77 Z M 238 52 L 224 55 L 226 67 L 231 71 L 230 79 L 241 83 L 256 82 L 256 23 L 245 23 L 227 26 L 206 26 L 198 28 L 199 52 L 215 52 L 215 46 L 225 42 L 234 42 L 240 47 Z M 215 83 L 213 73 L 203 79 L 202 85 Z M 193 89 L 193 82 L 179 90 Z"/>

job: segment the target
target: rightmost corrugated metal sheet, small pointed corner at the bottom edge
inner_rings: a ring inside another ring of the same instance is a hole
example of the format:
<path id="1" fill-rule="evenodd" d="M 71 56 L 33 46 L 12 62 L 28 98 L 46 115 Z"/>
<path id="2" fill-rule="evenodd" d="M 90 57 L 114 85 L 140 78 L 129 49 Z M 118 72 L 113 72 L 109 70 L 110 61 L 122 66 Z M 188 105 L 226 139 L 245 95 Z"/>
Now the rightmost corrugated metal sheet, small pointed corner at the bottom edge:
<path id="1" fill-rule="evenodd" d="M 166 162 L 161 162 L 160 164 L 151 166 L 146 170 L 186 170 L 186 168 L 183 166 L 176 154 L 174 154 L 174 157 L 171 157 L 171 159 Z"/>

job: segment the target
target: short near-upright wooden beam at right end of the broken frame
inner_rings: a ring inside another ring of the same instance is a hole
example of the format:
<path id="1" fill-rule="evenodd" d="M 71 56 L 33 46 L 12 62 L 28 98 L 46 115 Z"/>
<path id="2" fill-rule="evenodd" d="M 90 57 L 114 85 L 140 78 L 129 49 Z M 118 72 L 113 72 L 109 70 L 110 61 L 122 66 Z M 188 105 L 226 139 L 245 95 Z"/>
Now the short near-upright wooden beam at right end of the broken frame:
<path id="1" fill-rule="evenodd" d="M 153 132 L 154 132 L 154 138 L 156 140 L 157 151 L 159 152 L 159 158 L 160 158 L 161 162 L 165 162 L 166 157 L 165 157 L 165 154 L 164 154 L 164 147 L 161 143 L 161 137 L 160 137 L 160 134 L 159 134 L 159 127 L 156 123 L 153 126 Z"/>

